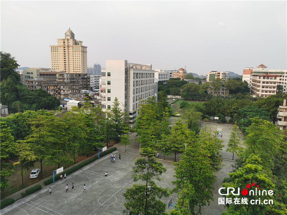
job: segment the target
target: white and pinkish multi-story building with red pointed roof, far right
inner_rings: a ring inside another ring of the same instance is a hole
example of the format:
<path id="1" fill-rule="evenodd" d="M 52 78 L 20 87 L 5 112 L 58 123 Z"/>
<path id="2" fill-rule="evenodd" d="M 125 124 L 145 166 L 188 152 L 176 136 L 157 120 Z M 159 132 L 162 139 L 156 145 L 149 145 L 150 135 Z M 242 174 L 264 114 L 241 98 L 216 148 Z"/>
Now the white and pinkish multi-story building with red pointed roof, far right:
<path id="1" fill-rule="evenodd" d="M 272 84 L 270 84 L 270 81 L 268 81 L 267 84 L 266 79 L 272 80 Z M 242 81 L 248 83 L 250 93 L 253 96 L 267 97 L 276 94 L 277 84 L 283 86 L 283 92 L 287 92 L 286 69 L 267 69 L 267 66 L 264 66 L 263 64 L 256 66 L 256 69 L 253 69 L 253 67 L 246 67 L 243 69 Z M 267 88 L 268 90 L 266 90 Z"/>

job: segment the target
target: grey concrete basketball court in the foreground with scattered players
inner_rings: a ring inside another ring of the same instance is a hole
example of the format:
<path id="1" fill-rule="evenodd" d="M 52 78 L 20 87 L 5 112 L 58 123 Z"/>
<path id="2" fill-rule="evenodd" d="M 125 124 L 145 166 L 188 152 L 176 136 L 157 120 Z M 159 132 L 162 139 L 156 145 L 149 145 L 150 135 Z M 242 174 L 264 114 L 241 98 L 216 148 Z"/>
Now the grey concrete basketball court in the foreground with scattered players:
<path id="1" fill-rule="evenodd" d="M 134 183 L 131 178 L 132 167 L 139 155 L 118 151 L 113 153 L 116 153 L 115 163 L 111 163 L 111 156 L 108 154 L 73 174 L 67 175 L 67 179 L 56 181 L 54 184 L 45 186 L 42 190 L 5 207 L 1 210 L 1 214 L 121 214 L 124 210 L 123 203 L 125 201 L 122 193 L 126 192 L 126 188 L 132 187 Z M 121 160 L 119 160 L 119 154 L 121 154 Z M 174 165 L 160 159 L 158 161 L 163 163 L 167 172 L 161 176 L 164 180 L 155 180 L 156 184 L 163 188 L 174 188 L 175 186 L 171 183 L 174 179 Z M 107 177 L 105 177 L 105 172 L 108 172 Z M 75 184 L 74 191 L 72 183 Z M 68 193 L 66 193 L 66 184 L 69 187 Z M 85 193 L 83 193 L 84 184 L 86 185 Z M 49 187 L 51 187 L 51 195 L 49 194 Z M 172 194 L 168 198 L 162 198 L 166 206 L 168 206 L 171 197 L 176 203 L 176 194 Z M 170 207 L 167 211 L 169 210 L 171 210 Z"/>

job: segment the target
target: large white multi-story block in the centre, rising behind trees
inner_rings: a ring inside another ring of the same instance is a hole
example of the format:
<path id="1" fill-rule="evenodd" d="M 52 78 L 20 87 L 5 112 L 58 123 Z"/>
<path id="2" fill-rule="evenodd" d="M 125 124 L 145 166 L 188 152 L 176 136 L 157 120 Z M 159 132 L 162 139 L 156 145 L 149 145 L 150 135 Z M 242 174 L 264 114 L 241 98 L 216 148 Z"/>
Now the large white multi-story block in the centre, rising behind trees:
<path id="1" fill-rule="evenodd" d="M 130 124 L 134 127 L 140 99 L 155 95 L 154 70 L 150 64 L 128 63 L 127 60 L 106 60 L 102 68 L 101 101 L 103 111 L 111 109 L 118 98 L 122 109 L 129 113 Z"/>

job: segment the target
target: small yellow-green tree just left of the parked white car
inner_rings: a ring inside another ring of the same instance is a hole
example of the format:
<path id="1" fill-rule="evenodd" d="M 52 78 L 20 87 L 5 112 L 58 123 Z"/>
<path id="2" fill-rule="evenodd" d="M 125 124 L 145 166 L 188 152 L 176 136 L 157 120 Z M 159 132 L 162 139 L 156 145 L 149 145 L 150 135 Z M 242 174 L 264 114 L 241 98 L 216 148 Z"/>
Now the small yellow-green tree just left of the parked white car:
<path id="1" fill-rule="evenodd" d="M 33 151 L 31 150 L 31 145 L 27 143 L 26 140 L 19 140 L 16 144 L 16 155 L 19 158 L 20 165 L 21 165 L 21 177 L 22 177 L 22 188 L 24 188 L 24 179 L 23 175 L 25 174 L 23 170 L 23 164 L 25 161 L 34 161 L 36 160 L 36 156 L 34 155 Z"/>

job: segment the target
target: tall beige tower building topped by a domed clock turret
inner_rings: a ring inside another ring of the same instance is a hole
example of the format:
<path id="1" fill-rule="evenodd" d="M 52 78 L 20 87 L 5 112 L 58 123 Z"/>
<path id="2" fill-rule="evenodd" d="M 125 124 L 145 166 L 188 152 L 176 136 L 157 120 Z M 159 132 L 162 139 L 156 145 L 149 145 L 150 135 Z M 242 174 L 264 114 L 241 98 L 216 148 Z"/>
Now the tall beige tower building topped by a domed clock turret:
<path id="1" fill-rule="evenodd" d="M 58 39 L 57 46 L 51 47 L 51 69 L 68 73 L 88 73 L 87 47 L 75 39 L 72 30 L 67 30 L 64 39 Z"/>

